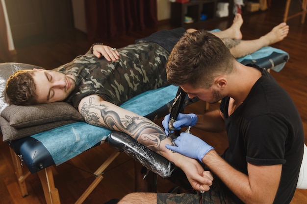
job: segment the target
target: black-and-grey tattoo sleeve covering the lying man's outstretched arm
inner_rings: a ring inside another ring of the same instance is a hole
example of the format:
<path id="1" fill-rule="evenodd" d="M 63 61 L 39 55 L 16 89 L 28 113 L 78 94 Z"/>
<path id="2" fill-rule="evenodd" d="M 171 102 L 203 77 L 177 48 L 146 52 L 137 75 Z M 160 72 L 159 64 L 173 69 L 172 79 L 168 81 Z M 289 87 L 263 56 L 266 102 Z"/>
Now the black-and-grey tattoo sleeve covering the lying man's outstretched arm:
<path id="1" fill-rule="evenodd" d="M 91 97 L 89 104 L 84 102 L 81 108 L 81 114 L 87 123 L 124 132 L 149 149 L 161 154 L 161 141 L 167 137 L 159 126 L 143 117 L 125 115 L 124 118 L 121 118 L 118 113 L 109 110 L 108 106 L 94 105 L 92 100 Z"/>

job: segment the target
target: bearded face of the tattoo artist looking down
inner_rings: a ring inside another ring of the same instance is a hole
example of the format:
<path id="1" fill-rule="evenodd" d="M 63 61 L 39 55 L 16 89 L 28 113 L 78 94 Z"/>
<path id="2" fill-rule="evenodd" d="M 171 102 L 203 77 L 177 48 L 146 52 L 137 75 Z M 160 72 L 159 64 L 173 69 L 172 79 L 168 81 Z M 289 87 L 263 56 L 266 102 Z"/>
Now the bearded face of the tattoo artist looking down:
<path id="1" fill-rule="evenodd" d="M 214 86 L 212 86 L 210 89 L 193 88 L 188 84 L 180 85 L 180 87 L 188 94 L 189 98 L 198 97 L 209 104 L 217 103 L 225 97 L 225 95 L 223 95 L 219 90 L 215 89 Z"/>

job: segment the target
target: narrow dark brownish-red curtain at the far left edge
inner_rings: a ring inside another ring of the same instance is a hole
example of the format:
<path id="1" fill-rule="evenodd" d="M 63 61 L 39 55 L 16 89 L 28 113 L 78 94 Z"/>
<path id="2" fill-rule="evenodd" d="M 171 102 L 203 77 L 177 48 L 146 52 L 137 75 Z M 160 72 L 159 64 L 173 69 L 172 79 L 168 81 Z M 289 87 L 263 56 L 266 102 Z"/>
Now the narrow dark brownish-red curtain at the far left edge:
<path id="1" fill-rule="evenodd" d="M 5 18 L 1 2 L 0 2 L 0 59 L 4 61 L 10 59 L 8 42 L 7 42 L 6 24 L 5 24 Z"/>

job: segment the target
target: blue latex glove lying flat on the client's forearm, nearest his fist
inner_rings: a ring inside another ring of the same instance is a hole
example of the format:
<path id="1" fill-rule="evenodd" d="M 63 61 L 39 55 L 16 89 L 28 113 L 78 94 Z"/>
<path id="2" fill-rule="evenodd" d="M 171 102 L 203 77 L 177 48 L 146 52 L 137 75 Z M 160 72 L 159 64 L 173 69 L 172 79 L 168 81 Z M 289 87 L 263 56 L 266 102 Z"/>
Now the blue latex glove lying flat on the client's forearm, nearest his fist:
<path id="1" fill-rule="evenodd" d="M 202 159 L 205 155 L 210 150 L 214 149 L 201 138 L 189 133 L 181 133 L 180 136 L 173 141 L 177 146 L 167 144 L 165 147 L 186 157 L 198 159 L 201 162 L 203 162 Z"/>

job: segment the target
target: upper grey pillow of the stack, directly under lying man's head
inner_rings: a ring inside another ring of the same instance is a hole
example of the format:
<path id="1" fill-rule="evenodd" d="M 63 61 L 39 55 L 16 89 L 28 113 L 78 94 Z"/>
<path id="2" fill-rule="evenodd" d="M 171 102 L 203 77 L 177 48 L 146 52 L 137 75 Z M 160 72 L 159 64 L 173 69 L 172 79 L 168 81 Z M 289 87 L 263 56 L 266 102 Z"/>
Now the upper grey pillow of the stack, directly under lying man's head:
<path id="1" fill-rule="evenodd" d="M 84 120 L 72 105 L 65 102 L 34 106 L 9 105 L 1 112 L 1 116 L 14 128 L 36 126 L 61 120 Z"/>

